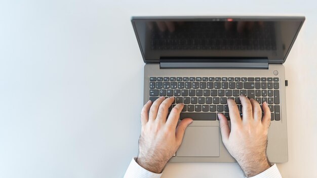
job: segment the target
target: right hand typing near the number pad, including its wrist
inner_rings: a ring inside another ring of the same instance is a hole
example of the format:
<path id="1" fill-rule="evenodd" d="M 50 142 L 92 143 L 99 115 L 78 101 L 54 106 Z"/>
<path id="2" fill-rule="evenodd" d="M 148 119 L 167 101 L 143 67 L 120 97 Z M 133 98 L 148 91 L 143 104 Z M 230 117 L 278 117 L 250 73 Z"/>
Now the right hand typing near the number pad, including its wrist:
<path id="1" fill-rule="evenodd" d="M 228 99 L 231 130 L 223 114 L 219 114 L 222 142 L 235 158 L 247 177 L 257 175 L 270 167 L 266 156 L 267 133 L 271 121 L 267 103 L 240 96 L 243 118 L 232 99 Z"/>

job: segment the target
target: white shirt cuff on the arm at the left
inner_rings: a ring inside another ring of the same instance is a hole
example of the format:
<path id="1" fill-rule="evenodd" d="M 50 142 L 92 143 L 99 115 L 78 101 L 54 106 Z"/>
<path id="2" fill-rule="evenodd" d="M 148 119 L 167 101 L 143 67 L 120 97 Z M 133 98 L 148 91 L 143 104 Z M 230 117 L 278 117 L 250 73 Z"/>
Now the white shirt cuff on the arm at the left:
<path id="1" fill-rule="evenodd" d="M 153 173 L 141 167 L 135 158 L 132 158 L 124 178 L 160 178 L 162 173 Z"/>

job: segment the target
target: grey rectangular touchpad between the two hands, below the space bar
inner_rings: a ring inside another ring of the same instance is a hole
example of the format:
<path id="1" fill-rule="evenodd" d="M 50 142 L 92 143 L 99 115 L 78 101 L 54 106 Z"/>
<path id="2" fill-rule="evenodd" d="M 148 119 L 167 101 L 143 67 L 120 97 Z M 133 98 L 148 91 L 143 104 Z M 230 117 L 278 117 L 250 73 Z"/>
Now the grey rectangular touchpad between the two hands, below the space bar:
<path id="1" fill-rule="evenodd" d="M 178 157 L 219 157 L 219 126 L 188 126 Z"/>

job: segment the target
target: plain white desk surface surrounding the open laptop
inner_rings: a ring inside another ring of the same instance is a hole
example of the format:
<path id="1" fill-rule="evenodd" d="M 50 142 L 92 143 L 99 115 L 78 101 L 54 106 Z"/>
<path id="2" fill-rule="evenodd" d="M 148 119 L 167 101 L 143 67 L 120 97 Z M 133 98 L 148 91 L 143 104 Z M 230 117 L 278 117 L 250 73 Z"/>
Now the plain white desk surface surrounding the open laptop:
<path id="1" fill-rule="evenodd" d="M 317 177 L 313 1 L 0 2 L 0 177 L 122 177 L 138 152 L 142 57 L 131 16 L 304 15 L 286 60 L 289 162 Z M 236 163 L 171 163 L 163 177 L 243 177 Z"/>

